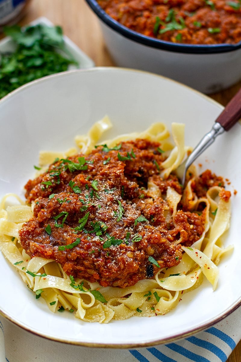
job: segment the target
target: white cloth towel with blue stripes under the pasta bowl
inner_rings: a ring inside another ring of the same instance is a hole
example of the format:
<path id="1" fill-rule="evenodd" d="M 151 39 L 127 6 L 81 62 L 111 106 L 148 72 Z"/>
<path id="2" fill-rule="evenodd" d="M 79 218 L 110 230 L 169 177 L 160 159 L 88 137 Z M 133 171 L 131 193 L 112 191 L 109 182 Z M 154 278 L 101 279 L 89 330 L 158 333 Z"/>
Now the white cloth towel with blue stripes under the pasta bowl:
<path id="1" fill-rule="evenodd" d="M 241 307 L 193 336 L 148 348 L 104 349 L 46 340 L 0 319 L 0 362 L 225 362 L 241 339 Z"/>

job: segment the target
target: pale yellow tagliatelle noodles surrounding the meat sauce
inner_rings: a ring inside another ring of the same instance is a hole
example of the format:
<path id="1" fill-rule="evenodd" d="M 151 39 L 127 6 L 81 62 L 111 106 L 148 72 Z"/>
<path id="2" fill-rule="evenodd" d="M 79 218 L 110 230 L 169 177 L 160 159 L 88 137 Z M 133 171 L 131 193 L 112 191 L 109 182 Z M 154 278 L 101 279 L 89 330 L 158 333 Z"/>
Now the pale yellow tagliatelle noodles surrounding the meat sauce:
<path id="1" fill-rule="evenodd" d="M 76 136 L 77 147 L 82 153 L 91 152 L 111 126 L 109 118 L 104 117 L 91 127 L 87 135 Z M 168 177 L 190 151 L 184 144 L 183 124 L 172 124 L 172 136 L 174 147 L 167 127 L 163 123 L 155 123 L 146 131 L 121 135 L 103 141 L 102 144 L 114 147 L 120 142 L 136 138 L 161 142 L 162 150 L 169 152 L 167 159 L 162 163 L 162 175 Z M 56 157 L 65 158 L 73 153 L 76 153 L 75 148 L 66 152 L 41 152 L 39 164 L 46 166 Z M 193 169 L 192 173 L 195 177 Z M 191 247 L 182 246 L 184 254 L 178 265 L 168 269 L 160 268 L 153 279 L 144 279 L 126 288 L 102 287 L 97 282 L 90 283 L 78 278 L 73 282 L 53 260 L 42 257 L 31 259 L 18 242 L 18 231 L 22 224 L 31 218 L 33 210 L 14 194 L 5 195 L 0 203 L 1 252 L 18 270 L 28 287 L 36 293 L 36 297 L 41 295 L 52 312 L 64 308 L 75 312 L 74 315 L 78 319 L 99 323 L 108 323 L 112 319 L 127 319 L 131 316 L 165 314 L 177 306 L 182 293 L 201 285 L 203 275 L 215 289 L 219 275 L 216 264 L 223 253 L 232 249 L 223 248 L 220 239 L 229 227 L 230 201 L 226 202 L 218 197 L 221 190 L 218 186 L 210 188 L 206 197 L 197 198 L 191 188 L 192 180 L 193 178 L 188 181 L 182 198 L 185 198 L 190 211 L 198 210 L 199 204 L 206 205 L 205 231 Z M 156 199 L 161 196 L 160 189 L 153 182 L 149 182 L 147 187 L 146 194 L 149 197 Z M 166 219 L 174 225 L 180 199 L 181 195 L 168 187 Z M 181 243 L 181 238 L 177 242 Z M 102 301 L 95 298 L 96 293 L 102 296 Z"/>

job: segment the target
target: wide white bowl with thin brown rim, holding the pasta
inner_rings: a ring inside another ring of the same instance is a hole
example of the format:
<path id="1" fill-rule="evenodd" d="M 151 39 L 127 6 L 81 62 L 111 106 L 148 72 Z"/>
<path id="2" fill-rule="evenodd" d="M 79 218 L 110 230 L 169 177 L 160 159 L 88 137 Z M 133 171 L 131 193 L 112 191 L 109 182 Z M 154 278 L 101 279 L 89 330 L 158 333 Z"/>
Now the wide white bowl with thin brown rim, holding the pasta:
<path id="1" fill-rule="evenodd" d="M 106 137 L 145 130 L 162 121 L 186 123 L 186 144 L 195 146 L 211 129 L 222 107 L 188 87 L 151 73 L 121 68 L 73 70 L 42 78 L 0 101 L 0 197 L 14 192 L 34 176 L 40 150 L 61 151 L 74 145 L 77 134 L 108 114 L 113 129 Z M 225 245 L 234 252 L 219 265 L 218 288 L 203 285 L 182 298 L 175 310 L 158 317 L 132 317 L 109 324 L 86 323 L 71 313 L 48 310 L 36 300 L 0 253 L 0 311 L 26 330 L 52 340 L 85 346 L 137 347 L 188 336 L 210 327 L 241 304 L 241 126 L 229 132 L 199 157 L 198 163 L 227 177 L 231 184 L 232 218 Z M 64 328 L 63 328 L 64 325 Z"/>

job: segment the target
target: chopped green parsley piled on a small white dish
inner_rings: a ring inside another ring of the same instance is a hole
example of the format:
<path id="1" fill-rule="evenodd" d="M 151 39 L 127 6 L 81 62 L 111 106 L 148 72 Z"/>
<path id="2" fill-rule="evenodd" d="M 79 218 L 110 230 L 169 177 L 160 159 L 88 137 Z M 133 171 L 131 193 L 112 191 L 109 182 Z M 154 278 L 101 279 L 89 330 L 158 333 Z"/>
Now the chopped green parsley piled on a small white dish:
<path id="1" fill-rule="evenodd" d="M 34 79 L 66 71 L 69 64 L 78 65 L 65 46 L 60 26 L 37 24 L 21 29 L 13 25 L 4 27 L 4 33 L 16 50 L 1 54 L 0 98 Z"/>

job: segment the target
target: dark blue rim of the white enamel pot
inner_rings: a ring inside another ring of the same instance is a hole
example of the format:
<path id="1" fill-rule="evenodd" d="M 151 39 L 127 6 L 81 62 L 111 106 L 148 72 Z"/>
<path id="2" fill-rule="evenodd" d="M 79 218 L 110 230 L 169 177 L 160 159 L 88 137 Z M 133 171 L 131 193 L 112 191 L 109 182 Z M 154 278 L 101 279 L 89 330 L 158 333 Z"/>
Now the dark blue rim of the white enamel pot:
<path id="1" fill-rule="evenodd" d="M 155 49 L 167 50 L 178 53 L 189 53 L 189 54 L 213 54 L 233 51 L 241 48 L 241 41 L 236 44 L 182 44 L 167 42 L 156 38 L 147 37 L 141 33 L 137 33 L 134 30 L 126 28 L 126 26 L 120 24 L 118 21 L 110 17 L 97 3 L 96 0 L 86 0 L 86 3 L 95 12 L 95 14 L 111 29 L 117 33 L 123 35 L 132 41 L 146 45 Z"/>

